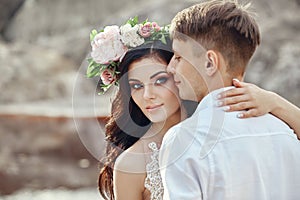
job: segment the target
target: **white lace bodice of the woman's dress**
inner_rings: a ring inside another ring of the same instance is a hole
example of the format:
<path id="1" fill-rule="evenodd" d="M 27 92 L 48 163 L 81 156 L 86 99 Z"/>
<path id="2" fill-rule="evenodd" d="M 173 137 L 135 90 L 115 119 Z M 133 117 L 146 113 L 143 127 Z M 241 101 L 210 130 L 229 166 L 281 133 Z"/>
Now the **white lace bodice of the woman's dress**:
<path id="1" fill-rule="evenodd" d="M 162 200 L 164 188 L 159 170 L 159 149 L 155 142 L 148 144 L 152 154 L 150 156 L 150 162 L 146 165 L 146 179 L 145 188 L 150 191 L 150 200 Z"/>

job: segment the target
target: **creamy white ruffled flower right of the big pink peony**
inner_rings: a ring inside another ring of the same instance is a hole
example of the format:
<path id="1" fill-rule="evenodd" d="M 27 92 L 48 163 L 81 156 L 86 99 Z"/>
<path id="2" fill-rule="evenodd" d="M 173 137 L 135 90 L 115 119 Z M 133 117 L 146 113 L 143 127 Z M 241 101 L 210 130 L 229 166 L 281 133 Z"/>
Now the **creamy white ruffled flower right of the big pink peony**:
<path id="1" fill-rule="evenodd" d="M 120 27 L 121 40 L 128 47 L 137 47 L 145 42 L 145 39 L 138 34 L 139 25 L 131 27 L 130 24 L 125 24 Z"/>

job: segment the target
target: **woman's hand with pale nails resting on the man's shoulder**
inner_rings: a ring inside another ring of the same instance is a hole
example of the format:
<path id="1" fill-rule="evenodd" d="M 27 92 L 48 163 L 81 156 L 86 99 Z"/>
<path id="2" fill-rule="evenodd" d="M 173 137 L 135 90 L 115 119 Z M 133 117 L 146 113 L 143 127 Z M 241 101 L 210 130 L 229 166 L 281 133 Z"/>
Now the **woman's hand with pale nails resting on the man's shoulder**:
<path id="1" fill-rule="evenodd" d="M 220 93 L 219 106 L 225 111 L 241 111 L 239 118 L 261 116 L 271 112 L 276 102 L 272 100 L 273 92 L 258 86 L 233 79 L 235 88 Z"/>

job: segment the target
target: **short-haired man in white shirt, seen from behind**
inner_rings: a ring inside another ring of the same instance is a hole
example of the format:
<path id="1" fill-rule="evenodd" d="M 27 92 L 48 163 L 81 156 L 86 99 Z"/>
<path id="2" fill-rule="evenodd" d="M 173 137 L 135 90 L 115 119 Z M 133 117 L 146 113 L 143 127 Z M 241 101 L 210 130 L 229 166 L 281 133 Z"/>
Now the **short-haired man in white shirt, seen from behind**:
<path id="1" fill-rule="evenodd" d="M 278 118 L 238 119 L 215 106 L 232 79 L 243 79 L 260 43 L 255 20 L 236 1 L 210 0 L 171 23 L 174 74 L 195 113 L 171 128 L 160 151 L 164 199 L 298 199 L 300 143 Z"/>

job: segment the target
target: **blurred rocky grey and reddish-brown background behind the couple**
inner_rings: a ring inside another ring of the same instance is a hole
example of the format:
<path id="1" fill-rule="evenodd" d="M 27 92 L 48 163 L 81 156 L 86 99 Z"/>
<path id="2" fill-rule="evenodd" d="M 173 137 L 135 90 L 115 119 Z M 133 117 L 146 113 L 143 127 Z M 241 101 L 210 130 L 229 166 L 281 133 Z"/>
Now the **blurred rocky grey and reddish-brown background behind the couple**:
<path id="1" fill-rule="evenodd" d="M 0 199 L 100 199 L 111 92 L 86 79 L 93 28 L 168 24 L 193 0 L 0 0 Z M 300 106 L 300 0 L 253 0 L 262 44 L 246 81 Z"/>

